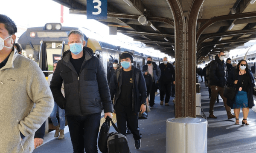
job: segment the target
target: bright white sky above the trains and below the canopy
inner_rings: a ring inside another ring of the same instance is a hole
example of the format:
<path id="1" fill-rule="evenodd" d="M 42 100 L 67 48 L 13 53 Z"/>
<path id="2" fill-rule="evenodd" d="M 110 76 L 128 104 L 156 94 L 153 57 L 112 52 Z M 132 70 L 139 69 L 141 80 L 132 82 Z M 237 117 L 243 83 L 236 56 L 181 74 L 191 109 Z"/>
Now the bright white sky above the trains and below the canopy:
<path id="1" fill-rule="evenodd" d="M 1 7 L 0 14 L 5 14 L 10 17 L 17 25 L 18 31 L 16 36 L 19 37 L 23 32 L 26 31 L 26 28 L 36 27 L 36 26 L 44 26 L 46 23 L 60 23 L 61 21 L 61 5 L 52 0 L 8 0 L 4 2 L 5 6 L 9 7 Z M 121 47 L 126 47 L 127 45 L 133 49 L 138 50 L 136 48 L 131 47 L 131 43 L 128 41 L 132 41 L 131 37 L 127 37 L 123 34 L 118 33 L 117 36 L 109 35 L 109 28 L 102 23 L 99 23 L 96 20 L 87 20 L 85 15 L 78 14 L 69 14 L 69 8 L 64 6 L 64 23 L 62 26 L 71 26 L 71 27 L 85 27 L 90 29 L 91 31 L 95 31 L 102 36 L 107 36 L 113 40 L 117 39 L 125 40 L 125 44 Z M 140 51 L 145 52 L 145 50 L 140 48 Z M 160 51 L 152 51 L 148 50 L 149 55 L 155 57 L 165 57 L 167 56 L 164 53 L 160 53 Z M 169 57 L 169 56 L 167 56 Z M 171 60 L 171 57 L 169 57 Z M 171 61 L 174 61 L 172 59 Z"/>

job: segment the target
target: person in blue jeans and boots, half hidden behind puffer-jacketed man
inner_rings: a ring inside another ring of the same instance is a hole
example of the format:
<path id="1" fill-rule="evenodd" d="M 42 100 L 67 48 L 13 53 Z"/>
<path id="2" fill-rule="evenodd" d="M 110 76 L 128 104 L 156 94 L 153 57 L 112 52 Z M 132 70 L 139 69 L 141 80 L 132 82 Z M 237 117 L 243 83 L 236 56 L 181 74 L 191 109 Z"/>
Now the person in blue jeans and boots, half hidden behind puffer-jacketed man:
<path id="1" fill-rule="evenodd" d="M 53 63 L 53 73 L 56 69 L 56 66 L 57 66 L 57 61 Z M 50 85 L 51 80 L 52 80 L 52 74 L 50 74 L 48 76 L 48 79 L 47 79 L 47 82 L 48 82 L 49 85 Z M 61 85 L 61 93 L 63 94 L 63 96 L 65 96 L 63 83 Z M 60 126 L 58 124 L 58 119 L 56 117 L 57 112 L 58 112 L 58 116 L 59 116 L 59 120 L 60 120 Z M 54 102 L 54 108 L 52 110 L 52 113 L 51 113 L 50 117 L 51 117 L 51 120 L 52 120 L 52 124 L 55 127 L 54 137 L 57 138 L 59 136 L 58 139 L 64 139 L 64 137 L 65 137 L 64 136 L 64 128 L 65 128 L 65 123 L 66 123 L 65 110 L 61 109 L 57 105 L 57 103 Z"/>

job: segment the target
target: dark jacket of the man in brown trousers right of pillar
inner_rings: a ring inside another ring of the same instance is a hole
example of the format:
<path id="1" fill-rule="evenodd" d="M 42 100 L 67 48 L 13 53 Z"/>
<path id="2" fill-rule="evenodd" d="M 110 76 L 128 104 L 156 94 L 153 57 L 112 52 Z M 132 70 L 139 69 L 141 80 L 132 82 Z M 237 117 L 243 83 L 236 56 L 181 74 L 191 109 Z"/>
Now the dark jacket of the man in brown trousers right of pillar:
<path id="1" fill-rule="evenodd" d="M 227 82 L 227 67 L 224 64 L 224 60 L 221 61 L 218 55 L 215 56 L 215 61 L 218 63 L 218 66 L 212 63 L 209 70 L 210 85 L 223 88 Z"/>

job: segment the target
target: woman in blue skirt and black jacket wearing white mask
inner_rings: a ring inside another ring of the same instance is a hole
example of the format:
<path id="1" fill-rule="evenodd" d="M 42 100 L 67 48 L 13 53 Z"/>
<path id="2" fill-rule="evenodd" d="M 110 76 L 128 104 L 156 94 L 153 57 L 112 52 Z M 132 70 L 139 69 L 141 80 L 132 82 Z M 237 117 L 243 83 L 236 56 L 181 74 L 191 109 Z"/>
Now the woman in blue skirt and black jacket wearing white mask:
<path id="1" fill-rule="evenodd" d="M 236 115 L 236 125 L 239 125 L 240 108 L 243 111 L 242 125 L 247 123 L 249 108 L 254 106 L 253 88 L 255 80 L 252 71 L 248 68 L 247 61 L 241 59 L 236 69 L 232 69 L 227 77 L 227 83 L 236 87 L 236 96 L 234 99 L 227 99 L 227 104 L 234 109 Z"/>

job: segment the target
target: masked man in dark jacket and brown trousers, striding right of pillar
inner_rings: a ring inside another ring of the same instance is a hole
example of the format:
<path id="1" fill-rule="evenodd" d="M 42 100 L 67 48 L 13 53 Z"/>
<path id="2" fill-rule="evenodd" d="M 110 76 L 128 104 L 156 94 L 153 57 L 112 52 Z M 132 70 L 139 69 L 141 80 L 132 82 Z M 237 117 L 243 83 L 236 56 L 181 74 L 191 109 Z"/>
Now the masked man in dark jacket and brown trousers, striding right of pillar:
<path id="1" fill-rule="evenodd" d="M 232 119 L 236 117 L 231 113 L 230 107 L 227 105 L 227 98 L 223 96 L 224 86 L 226 85 L 227 77 L 227 67 L 224 64 L 225 52 L 220 51 L 218 55 L 215 56 L 215 62 L 213 62 L 209 69 L 210 76 L 210 88 L 211 88 L 211 99 L 210 99 L 210 109 L 209 109 L 209 118 L 217 119 L 213 115 L 213 107 L 216 101 L 218 94 L 220 94 L 223 99 L 225 109 L 227 111 L 227 118 Z"/>

